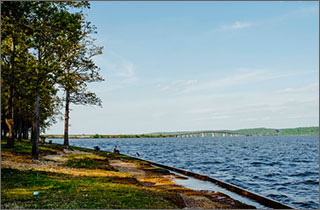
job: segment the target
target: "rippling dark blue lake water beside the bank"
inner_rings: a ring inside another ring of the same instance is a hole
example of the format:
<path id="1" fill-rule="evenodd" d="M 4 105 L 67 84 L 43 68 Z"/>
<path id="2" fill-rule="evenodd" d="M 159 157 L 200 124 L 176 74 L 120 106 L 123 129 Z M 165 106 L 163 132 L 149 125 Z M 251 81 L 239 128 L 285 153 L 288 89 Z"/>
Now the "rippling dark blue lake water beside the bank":
<path id="1" fill-rule="evenodd" d="M 53 139 L 63 143 L 62 139 Z M 70 139 L 208 175 L 295 208 L 319 208 L 319 136 Z"/>

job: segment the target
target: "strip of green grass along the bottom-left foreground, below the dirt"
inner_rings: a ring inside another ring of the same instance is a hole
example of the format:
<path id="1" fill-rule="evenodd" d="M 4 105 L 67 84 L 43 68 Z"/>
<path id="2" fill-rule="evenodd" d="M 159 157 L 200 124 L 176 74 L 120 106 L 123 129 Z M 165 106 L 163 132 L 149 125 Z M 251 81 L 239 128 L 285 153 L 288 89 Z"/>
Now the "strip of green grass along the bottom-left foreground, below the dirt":
<path id="1" fill-rule="evenodd" d="M 166 193 L 49 172 L 1 170 L 1 208 L 26 209 L 169 209 L 178 208 Z M 33 192 L 39 192 L 33 195 Z"/>

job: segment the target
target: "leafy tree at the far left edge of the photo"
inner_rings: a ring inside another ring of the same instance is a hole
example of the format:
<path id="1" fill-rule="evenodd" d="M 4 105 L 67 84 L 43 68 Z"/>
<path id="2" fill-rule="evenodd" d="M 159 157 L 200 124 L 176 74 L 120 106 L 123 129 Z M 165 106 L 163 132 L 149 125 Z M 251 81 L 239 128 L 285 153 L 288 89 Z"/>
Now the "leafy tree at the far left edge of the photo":
<path id="1" fill-rule="evenodd" d="M 8 128 L 9 147 L 14 146 L 16 136 L 16 90 L 28 55 L 29 33 L 26 28 L 30 2 L 1 2 L 1 86 L 2 122 Z"/>

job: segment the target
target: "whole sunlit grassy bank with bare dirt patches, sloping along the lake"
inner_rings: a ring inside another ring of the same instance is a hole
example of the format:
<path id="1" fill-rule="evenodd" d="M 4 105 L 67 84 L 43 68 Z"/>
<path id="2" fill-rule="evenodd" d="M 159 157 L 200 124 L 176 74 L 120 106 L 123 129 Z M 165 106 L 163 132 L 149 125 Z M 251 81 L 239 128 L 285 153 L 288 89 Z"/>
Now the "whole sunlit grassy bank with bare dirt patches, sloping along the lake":
<path id="1" fill-rule="evenodd" d="M 2 209 L 254 208 L 179 186 L 173 179 L 185 177 L 121 154 L 44 143 L 32 160 L 29 140 L 1 147 Z"/>

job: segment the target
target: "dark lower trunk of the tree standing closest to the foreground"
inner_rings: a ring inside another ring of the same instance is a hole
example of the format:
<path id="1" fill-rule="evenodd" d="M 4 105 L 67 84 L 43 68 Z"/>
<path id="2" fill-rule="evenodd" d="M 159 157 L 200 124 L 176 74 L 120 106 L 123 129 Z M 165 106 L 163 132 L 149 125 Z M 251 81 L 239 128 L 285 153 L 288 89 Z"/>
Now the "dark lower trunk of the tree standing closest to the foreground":
<path id="1" fill-rule="evenodd" d="M 32 159 L 38 159 L 39 156 L 39 136 L 40 136 L 40 94 L 37 94 L 34 108 L 34 135 L 32 139 Z"/>

